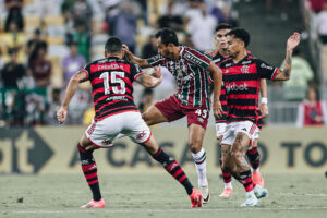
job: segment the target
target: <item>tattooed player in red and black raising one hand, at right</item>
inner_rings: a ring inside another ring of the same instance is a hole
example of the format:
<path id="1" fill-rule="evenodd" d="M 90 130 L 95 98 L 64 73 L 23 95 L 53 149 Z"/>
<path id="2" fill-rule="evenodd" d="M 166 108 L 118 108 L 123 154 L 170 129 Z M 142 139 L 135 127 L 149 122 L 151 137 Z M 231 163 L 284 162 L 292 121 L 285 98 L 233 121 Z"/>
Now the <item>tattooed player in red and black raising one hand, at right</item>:
<path id="1" fill-rule="evenodd" d="M 259 204 L 258 198 L 265 197 L 268 191 L 253 183 L 245 153 L 250 142 L 259 133 L 257 101 L 261 78 L 289 80 L 292 52 L 301 39 L 299 33 L 288 39 L 283 70 L 279 70 L 246 52 L 250 35 L 245 29 L 233 28 L 228 35 L 231 59 L 220 64 L 228 105 L 228 124 L 221 142 L 222 170 L 230 172 L 243 184 L 246 201 L 241 206 L 256 206 Z"/>

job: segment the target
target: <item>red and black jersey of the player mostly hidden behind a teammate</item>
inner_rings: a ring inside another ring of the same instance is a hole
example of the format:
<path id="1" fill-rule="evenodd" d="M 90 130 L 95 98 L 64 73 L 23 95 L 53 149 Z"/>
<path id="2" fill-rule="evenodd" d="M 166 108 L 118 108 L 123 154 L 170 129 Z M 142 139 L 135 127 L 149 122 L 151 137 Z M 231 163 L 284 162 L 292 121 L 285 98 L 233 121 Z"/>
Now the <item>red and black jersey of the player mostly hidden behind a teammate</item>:
<path id="1" fill-rule="evenodd" d="M 218 51 L 216 53 L 214 53 L 214 58 L 213 61 L 216 65 L 220 65 L 220 63 L 222 61 L 225 61 L 226 58 L 223 56 L 221 56 Z M 209 74 L 209 80 L 211 83 L 214 83 L 214 78 L 211 77 L 213 75 Z M 223 110 L 222 116 L 221 117 L 215 117 L 215 121 L 216 123 L 225 123 L 226 119 L 227 119 L 227 113 L 228 113 L 228 107 L 227 107 L 227 100 L 226 100 L 226 89 L 225 89 L 225 85 L 222 82 L 222 86 L 221 86 L 221 92 L 220 92 L 220 104 L 221 104 L 221 108 Z"/>

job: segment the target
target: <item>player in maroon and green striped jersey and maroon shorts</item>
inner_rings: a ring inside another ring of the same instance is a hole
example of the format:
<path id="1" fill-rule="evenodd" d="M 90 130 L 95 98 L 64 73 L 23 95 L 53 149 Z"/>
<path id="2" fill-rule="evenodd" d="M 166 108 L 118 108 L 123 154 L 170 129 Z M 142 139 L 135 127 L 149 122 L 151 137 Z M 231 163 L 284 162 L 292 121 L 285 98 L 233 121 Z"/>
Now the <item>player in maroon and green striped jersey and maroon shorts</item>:
<path id="1" fill-rule="evenodd" d="M 221 71 L 209 56 L 196 49 L 179 46 L 178 37 L 173 31 L 160 29 L 156 37 L 158 39 L 158 56 L 140 59 L 125 47 L 126 57 L 141 68 L 165 65 L 177 81 L 178 93 L 148 108 L 143 113 L 143 119 L 148 125 L 153 125 L 187 117 L 189 146 L 198 175 L 198 186 L 204 203 L 207 203 L 209 201 L 209 187 L 206 177 L 206 153 L 202 146 L 210 110 L 207 71 L 211 73 L 214 78 L 213 110 L 215 116 L 221 113 L 219 101 Z"/>

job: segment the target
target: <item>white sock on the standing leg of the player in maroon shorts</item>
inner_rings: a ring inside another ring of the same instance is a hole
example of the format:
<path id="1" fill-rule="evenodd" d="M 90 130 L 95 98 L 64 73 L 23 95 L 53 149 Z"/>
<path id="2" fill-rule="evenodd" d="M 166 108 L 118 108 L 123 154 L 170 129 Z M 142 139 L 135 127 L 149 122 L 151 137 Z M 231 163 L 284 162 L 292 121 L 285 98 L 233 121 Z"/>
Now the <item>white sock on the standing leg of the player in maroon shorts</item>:
<path id="1" fill-rule="evenodd" d="M 196 172 L 198 175 L 198 186 L 207 186 L 208 181 L 207 181 L 207 161 L 206 161 L 206 152 L 204 148 L 202 148 L 198 153 L 193 154 L 192 157 L 195 164 Z"/>

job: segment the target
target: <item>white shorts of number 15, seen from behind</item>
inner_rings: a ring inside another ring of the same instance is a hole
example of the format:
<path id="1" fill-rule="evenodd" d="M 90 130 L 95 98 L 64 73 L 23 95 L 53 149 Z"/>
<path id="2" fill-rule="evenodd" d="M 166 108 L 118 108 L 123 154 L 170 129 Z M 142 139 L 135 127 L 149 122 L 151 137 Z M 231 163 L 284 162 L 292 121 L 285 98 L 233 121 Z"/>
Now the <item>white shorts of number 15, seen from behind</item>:
<path id="1" fill-rule="evenodd" d="M 113 138 L 122 133 L 138 144 L 146 143 L 152 132 L 140 112 L 129 111 L 93 121 L 86 129 L 87 138 L 97 147 L 111 147 Z"/>

